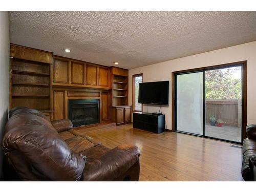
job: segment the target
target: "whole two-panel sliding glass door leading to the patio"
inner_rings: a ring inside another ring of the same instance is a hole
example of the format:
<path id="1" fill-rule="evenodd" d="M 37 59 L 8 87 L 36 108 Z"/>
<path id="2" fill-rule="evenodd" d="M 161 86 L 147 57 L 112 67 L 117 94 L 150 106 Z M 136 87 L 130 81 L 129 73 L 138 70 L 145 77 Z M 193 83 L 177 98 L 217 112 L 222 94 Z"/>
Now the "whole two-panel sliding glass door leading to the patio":
<path id="1" fill-rule="evenodd" d="M 175 131 L 242 142 L 243 65 L 177 72 Z"/>

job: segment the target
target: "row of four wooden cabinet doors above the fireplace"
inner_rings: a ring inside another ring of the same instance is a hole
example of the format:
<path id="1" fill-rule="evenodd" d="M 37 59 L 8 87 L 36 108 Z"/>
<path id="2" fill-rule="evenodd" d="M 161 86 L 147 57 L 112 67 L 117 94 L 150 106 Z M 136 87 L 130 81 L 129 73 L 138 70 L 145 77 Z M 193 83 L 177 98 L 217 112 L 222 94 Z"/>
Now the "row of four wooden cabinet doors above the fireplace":
<path id="1" fill-rule="evenodd" d="M 53 86 L 110 89 L 110 68 L 53 57 Z"/>

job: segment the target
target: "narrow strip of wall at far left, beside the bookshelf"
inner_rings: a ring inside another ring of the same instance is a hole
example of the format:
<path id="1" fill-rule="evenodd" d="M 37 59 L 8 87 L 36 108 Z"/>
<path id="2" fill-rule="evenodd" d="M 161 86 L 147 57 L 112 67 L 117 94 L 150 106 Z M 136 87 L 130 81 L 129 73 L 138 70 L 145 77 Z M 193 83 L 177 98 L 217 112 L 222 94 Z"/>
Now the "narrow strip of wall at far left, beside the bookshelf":
<path id="1" fill-rule="evenodd" d="M 8 118 L 9 107 L 9 19 L 7 11 L 0 11 L 0 143 Z M 3 177 L 3 152 L 0 150 L 0 178 Z"/>

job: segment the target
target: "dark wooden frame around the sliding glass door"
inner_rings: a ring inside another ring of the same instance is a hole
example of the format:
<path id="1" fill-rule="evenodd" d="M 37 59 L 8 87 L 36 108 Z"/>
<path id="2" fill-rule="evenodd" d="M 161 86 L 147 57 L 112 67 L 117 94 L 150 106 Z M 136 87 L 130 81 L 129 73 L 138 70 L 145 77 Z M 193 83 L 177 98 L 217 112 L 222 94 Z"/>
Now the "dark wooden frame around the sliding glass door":
<path id="1" fill-rule="evenodd" d="M 181 70 L 181 71 L 174 71 L 172 72 L 172 131 L 176 131 L 177 127 L 177 122 L 176 122 L 176 90 L 177 90 L 177 85 L 176 85 L 176 76 L 178 74 L 187 74 L 187 73 L 195 73 L 195 72 L 203 72 L 203 79 L 204 79 L 204 71 L 209 71 L 209 70 L 215 70 L 215 69 L 223 69 L 223 68 L 229 68 L 229 67 L 236 67 L 236 66 L 241 66 L 241 83 L 242 83 L 242 125 L 241 125 L 241 142 L 246 138 L 246 125 L 247 125 L 247 61 L 238 61 L 238 62 L 230 62 L 230 63 L 225 63 L 222 65 L 215 65 L 215 66 L 207 66 L 207 67 L 201 67 L 201 68 L 195 68 L 195 69 L 187 69 L 187 70 Z M 205 82 L 203 80 L 203 93 L 205 92 Z M 203 94 L 203 137 L 206 138 L 211 138 L 211 139 L 218 139 L 218 138 L 212 138 L 212 137 L 207 137 L 205 136 L 205 94 Z M 188 134 L 188 133 L 187 133 Z M 191 134 L 195 135 L 195 134 Z M 201 135 L 197 135 L 201 136 Z M 202 136 L 201 136 L 202 137 Z M 224 139 L 218 139 L 222 141 L 227 141 L 227 142 L 232 142 L 229 140 L 224 140 Z M 234 142 L 234 143 L 239 143 L 241 142 Z"/>

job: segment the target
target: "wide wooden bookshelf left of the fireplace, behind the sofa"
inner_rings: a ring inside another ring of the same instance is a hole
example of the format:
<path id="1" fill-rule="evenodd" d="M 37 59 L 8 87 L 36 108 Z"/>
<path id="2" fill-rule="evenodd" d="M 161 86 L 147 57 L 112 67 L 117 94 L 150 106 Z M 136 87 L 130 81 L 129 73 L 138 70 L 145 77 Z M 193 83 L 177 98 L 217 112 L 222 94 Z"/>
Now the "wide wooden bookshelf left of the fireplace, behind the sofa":
<path id="1" fill-rule="evenodd" d="M 52 53 L 11 45 L 10 56 L 10 108 L 52 111 Z"/>

